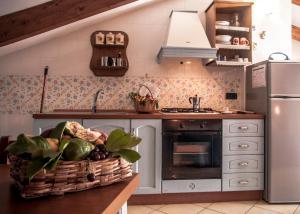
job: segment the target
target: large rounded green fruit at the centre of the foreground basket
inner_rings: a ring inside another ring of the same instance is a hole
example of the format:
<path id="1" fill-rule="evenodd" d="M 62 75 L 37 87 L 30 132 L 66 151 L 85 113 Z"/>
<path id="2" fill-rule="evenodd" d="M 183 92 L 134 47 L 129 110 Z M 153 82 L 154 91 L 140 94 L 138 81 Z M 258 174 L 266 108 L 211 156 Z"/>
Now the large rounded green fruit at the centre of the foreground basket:
<path id="1" fill-rule="evenodd" d="M 65 148 L 63 157 L 69 161 L 84 160 L 94 148 L 93 144 L 85 140 L 73 138 Z"/>

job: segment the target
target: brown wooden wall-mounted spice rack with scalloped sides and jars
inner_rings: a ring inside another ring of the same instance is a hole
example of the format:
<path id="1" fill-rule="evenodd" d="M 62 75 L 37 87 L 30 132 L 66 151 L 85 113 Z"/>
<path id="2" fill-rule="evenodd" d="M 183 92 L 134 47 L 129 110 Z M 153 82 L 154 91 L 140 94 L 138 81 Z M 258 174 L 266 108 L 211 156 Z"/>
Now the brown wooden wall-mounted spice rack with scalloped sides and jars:
<path id="1" fill-rule="evenodd" d="M 108 37 L 108 36 L 113 36 Z M 123 39 L 117 41 L 116 36 Z M 100 38 L 100 39 L 99 39 Z M 95 76 L 124 76 L 129 68 L 128 35 L 123 31 L 95 31 L 90 37 L 93 55 L 90 69 Z"/>

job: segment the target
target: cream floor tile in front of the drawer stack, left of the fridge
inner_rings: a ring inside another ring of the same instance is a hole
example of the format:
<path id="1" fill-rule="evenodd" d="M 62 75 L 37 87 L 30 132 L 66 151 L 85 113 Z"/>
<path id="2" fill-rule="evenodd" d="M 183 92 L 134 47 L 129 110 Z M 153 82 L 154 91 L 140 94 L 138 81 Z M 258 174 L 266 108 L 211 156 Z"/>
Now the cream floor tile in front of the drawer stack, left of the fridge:
<path id="1" fill-rule="evenodd" d="M 226 214 L 241 214 L 247 212 L 255 202 L 221 202 L 213 203 L 208 208 Z"/>

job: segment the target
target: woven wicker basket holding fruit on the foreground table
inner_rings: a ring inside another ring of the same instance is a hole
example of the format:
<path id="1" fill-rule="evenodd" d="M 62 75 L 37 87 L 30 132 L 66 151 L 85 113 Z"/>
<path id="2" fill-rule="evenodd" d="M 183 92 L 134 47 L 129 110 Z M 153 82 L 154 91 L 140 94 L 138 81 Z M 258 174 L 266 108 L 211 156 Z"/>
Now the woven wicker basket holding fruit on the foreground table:
<path id="1" fill-rule="evenodd" d="M 26 179 L 27 160 L 10 156 L 10 175 L 15 180 L 23 198 L 46 195 L 63 195 L 98 186 L 106 186 L 132 176 L 130 163 L 121 158 L 101 161 L 59 161 L 54 170 L 41 170 L 28 184 Z M 96 179 L 88 181 L 87 175 L 94 173 Z"/>

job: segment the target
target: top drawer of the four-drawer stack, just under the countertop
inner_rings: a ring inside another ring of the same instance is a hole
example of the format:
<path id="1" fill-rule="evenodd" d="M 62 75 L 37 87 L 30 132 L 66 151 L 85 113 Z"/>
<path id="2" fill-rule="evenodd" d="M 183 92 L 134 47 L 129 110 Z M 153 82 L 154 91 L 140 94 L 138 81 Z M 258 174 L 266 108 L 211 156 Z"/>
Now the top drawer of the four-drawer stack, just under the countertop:
<path id="1" fill-rule="evenodd" d="M 223 120 L 223 136 L 264 136 L 263 120 Z"/>

